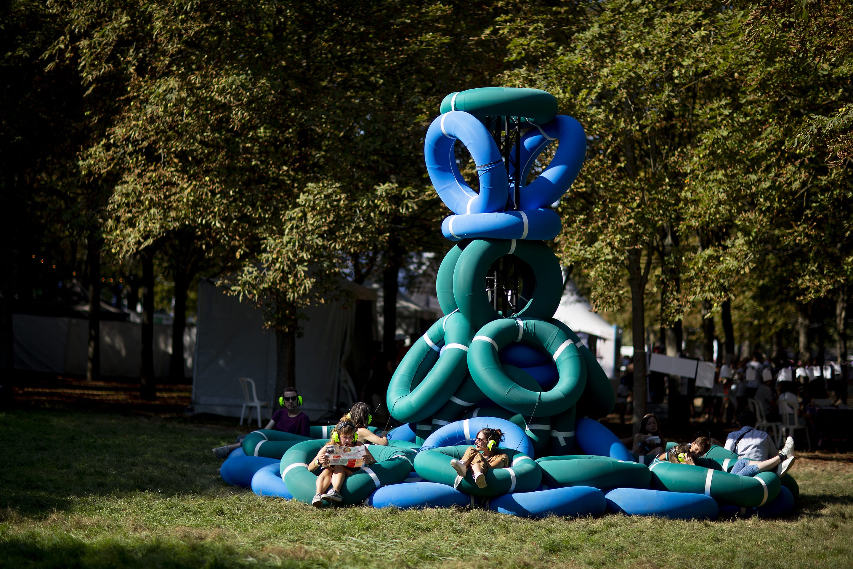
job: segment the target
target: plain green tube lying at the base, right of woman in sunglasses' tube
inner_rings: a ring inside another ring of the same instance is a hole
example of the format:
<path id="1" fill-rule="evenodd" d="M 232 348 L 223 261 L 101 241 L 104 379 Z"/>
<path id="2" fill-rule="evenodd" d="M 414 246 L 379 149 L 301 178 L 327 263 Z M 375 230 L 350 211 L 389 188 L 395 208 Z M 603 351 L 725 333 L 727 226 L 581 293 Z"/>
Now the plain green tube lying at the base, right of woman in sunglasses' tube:
<path id="1" fill-rule="evenodd" d="M 652 473 L 636 462 L 620 462 L 606 456 L 569 455 L 537 458 L 543 484 L 548 486 L 593 486 L 648 488 Z"/>

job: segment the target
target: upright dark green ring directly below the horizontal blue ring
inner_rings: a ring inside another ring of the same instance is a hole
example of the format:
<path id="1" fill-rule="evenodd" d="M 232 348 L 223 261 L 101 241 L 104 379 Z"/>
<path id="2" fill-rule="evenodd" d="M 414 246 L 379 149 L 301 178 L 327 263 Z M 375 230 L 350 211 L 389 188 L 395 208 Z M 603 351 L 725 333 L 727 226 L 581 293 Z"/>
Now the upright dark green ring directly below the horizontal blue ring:
<path id="1" fill-rule="evenodd" d="M 560 262 L 548 245 L 542 241 L 476 239 L 462 251 L 453 272 L 456 305 L 475 329 L 501 316 L 492 307 L 485 291 L 485 278 L 491 265 L 504 255 L 514 255 L 530 266 L 535 279 L 530 292 L 519 292 L 530 300 L 512 316 L 548 320 L 560 305 L 563 276 Z"/>

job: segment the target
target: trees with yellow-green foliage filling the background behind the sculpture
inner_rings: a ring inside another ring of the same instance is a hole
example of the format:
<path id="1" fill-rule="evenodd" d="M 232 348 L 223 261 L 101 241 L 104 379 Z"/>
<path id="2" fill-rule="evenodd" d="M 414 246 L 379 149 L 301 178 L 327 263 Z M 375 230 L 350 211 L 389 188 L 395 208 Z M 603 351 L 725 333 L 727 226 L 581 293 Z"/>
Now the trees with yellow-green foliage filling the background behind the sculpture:
<path id="1" fill-rule="evenodd" d="M 154 397 L 154 311 L 183 327 L 200 275 L 264 305 L 281 386 L 300 308 L 342 275 L 383 282 L 390 353 L 408 259 L 450 245 L 423 165 L 427 125 L 446 94 L 499 85 L 550 91 L 587 132 L 554 248 L 624 326 L 635 377 L 647 345 L 674 355 L 687 340 L 705 359 L 715 339 L 721 359 L 845 359 L 849 9 L 3 3 L 2 373 L 12 312 L 76 282 L 94 309 L 89 377 L 98 300 L 138 304 L 142 394 Z"/>

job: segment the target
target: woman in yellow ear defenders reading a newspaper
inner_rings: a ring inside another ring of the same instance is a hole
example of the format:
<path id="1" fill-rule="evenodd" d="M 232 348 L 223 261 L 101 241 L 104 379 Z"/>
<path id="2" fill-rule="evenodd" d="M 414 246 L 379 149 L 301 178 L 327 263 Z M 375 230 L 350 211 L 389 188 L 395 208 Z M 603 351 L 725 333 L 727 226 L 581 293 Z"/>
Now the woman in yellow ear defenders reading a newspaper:
<path id="1" fill-rule="evenodd" d="M 346 477 L 354 468 L 374 462 L 367 446 L 358 440 L 355 424 L 347 417 L 341 417 L 328 444 L 320 449 L 308 465 L 309 470 L 322 468 L 317 476 L 317 493 L 311 499 L 311 505 L 320 508 L 324 500 L 340 502 L 343 499 L 340 489 L 344 487 Z"/>

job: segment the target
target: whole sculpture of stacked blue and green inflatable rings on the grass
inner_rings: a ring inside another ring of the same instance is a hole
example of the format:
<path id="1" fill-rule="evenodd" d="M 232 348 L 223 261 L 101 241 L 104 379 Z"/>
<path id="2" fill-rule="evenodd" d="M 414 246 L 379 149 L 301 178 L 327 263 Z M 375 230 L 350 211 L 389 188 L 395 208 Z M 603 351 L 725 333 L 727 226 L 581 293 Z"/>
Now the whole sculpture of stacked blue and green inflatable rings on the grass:
<path id="1" fill-rule="evenodd" d="M 346 479 L 344 504 L 376 508 L 480 506 L 527 517 L 623 514 L 714 519 L 789 511 L 796 483 L 775 473 L 728 473 L 737 456 L 713 447 L 699 466 L 632 456 L 597 419 L 614 393 L 577 334 L 554 319 L 563 290 L 545 241 L 560 232 L 552 209 L 583 165 L 583 127 L 557 114 L 543 90 L 451 93 L 424 142 L 430 180 L 451 214 L 455 247 L 438 270 L 446 316 L 415 341 L 392 376 L 387 409 L 401 427 L 377 463 Z M 462 177 L 457 142 L 471 155 L 476 189 Z M 534 168 L 551 144 L 550 163 Z M 529 180 L 533 174 L 537 174 Z M 481 428 L 505 433 L 506 468 L 473 483 L 451 466 Z M 306 462 L 328 438 L 258 431 L 223 464 L 223 479 L 260 495 L 310 502 Z M 322 433 L 321 433 L 322 432 Z"/>

